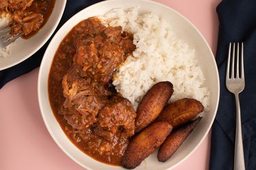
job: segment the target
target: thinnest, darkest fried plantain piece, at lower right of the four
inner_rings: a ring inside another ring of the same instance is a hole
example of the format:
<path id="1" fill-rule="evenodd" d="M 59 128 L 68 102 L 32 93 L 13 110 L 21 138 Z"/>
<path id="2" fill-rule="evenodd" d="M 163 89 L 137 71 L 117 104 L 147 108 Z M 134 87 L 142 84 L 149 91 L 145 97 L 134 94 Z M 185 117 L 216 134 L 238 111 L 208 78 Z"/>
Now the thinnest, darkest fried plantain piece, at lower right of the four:
<path id="1" fill-rule="evenodd" d="M 195 129 L 195 126 L 197 126 L 200 120 L 201 117 L 187 122 L 183 126 L 173 130 L 173 132 L 167 137 L 167 139 L 165 139 L 165 142 L 162 143 L 160 149 L 158 150 L 158 161 L 165 162 L 168 160 L 182 145 L 186 137 L 188 137 L 193 129 Z"/>

